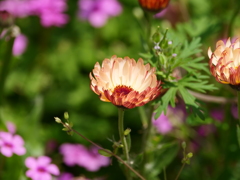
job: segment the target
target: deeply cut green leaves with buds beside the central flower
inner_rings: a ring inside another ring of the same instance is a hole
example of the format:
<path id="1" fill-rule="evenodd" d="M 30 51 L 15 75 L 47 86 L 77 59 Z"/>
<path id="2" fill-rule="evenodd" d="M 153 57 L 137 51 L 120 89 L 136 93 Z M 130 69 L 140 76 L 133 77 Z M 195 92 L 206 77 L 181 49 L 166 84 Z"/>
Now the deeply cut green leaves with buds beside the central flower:
<path id="1" fill-rule="evenodd" d="M 213 84 L 208 84 L 209 70 L 208 64 L 203 62 L 201 56 L 201 39 L 193 38 L 191 42 L 185 40 L 182 44 L 174 44 L 170 41 L 171 33 L 155 32 L 164 34 L 158 45 L 153 48 L 151 54 L 141 54 L 147 62 L 156 67 L 157 75 L 161 79 L 162 86 L 167 89 L 166 93 L 158 100 L 160 104 L 156 110 L 156 117 L 164 111 L 170 104 L 175 107 L 176 96 L 181 96 L 186 109 L 201 119 L 204 119 L 203 109 L 199 107 L 196 97 L 190 93 L 190 89 L 205 93 L 214 90 Z"/>

